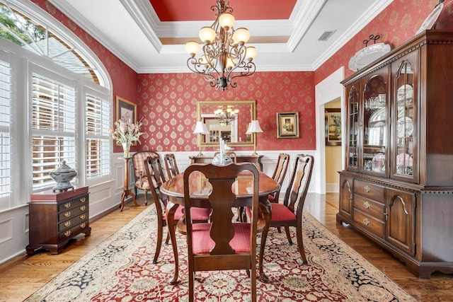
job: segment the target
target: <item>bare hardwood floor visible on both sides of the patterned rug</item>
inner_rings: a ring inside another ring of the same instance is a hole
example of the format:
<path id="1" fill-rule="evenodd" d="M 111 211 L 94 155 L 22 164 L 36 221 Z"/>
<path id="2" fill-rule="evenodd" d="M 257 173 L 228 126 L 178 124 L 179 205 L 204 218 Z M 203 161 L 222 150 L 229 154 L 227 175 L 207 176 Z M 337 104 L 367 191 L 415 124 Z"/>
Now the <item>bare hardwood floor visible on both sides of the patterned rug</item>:
<path id="1" fill-rule="evenodd" d="M 137 199 L 143 204 L 143 195 Z M 152 207 L 152 205 L 148 205 Z M 59 255 L 40 252 L 33 256 L 23 255 L 0 265 L 0 301 L 23 301 L 57 276 L 86 252 L 139 214 L 144 206 L 125 205 L 124 211 L 113 211 L 91 223 L 91 236 L 81 235 Z M 431 279 L 418 279 L 406 270 L 404 264 L 389 252 L 379 248 L 353 228 L 336 223 L 338 194 L 309 194 L 305 210 L 321 221 L 330 231 L 357 250 L 363 257 L 405 289 L 417 301 L 452 301 L 453 276 L 435 273 Z M 24 247 L 25 248 L 25 247 Z"/>

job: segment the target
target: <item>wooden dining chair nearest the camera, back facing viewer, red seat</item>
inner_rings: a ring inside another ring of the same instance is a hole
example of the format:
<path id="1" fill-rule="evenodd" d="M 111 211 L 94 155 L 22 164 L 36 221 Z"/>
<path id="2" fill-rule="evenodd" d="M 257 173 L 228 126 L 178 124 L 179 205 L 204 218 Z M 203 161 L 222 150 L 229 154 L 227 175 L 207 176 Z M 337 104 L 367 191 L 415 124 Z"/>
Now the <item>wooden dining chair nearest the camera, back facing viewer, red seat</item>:
<path id="1" fill-rule="evenodd" d="M 253 174 L 250 199 L 236 199 L 231 191 L 236 177 L 244 170 Z M 189 176 L 202 172 L 212 185 L 209 199 L 190 196 Z M 185 221 L 187 225 L 189 301 L 194 301 L 195 272 L 247 269 L 251 282 L 251 301 L 256 301 L 256 228 L 258 221 L 258 169 L 252 163 L 239 165 L 193 164 L 184 172 Z M 237 202 L 251 207 L 251 222 L 233 221 Z M 193 223 L 194 207 L 212 209 L 210 223 Z"/>

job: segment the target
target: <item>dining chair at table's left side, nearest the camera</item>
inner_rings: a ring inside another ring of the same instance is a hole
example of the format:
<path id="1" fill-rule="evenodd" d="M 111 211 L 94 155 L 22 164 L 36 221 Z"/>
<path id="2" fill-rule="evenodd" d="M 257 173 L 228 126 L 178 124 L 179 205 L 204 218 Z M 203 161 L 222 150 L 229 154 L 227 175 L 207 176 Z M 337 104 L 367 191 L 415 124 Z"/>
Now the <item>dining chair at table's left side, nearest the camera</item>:
<path id="1" fill-rule="evenodd" d="M 161 251 L 162 240 L 164 238 L 164 226 L 167 226 L 168 235 L 165 240 L 165 243 L 168 244 L 168 240 L 171 238 L 171 245 L 173 247 L 173 255 L 175 262 L 178 263 L 178 248 L 176 246 L 176 235 L 175 229 L 178 225 L 178 221 L 183 219 L 183 207 L 178 207 L 176 212 L 168 220 L 173 220 L 173 227 L 168 227 L 166 219 L 166 206 L 168 199 L 165 194 L 161 194 L 160 187 L 166 181 L 164 170 L 162 170 L 161 160 L 159 156 L 148 156 L 144 159 L 144 168 L 149 183 L 153 183 L 149 187 L 151 194 L 153 196 L 154 205 L 156 206 L 157 212 L 157 242 L 156 242 L 156 252 L 154 253 L 153 263 L 157 263 L 157 258 Z M 194 221 L 197 222 L 206 222 L 210 219 L 210 210 L 209 209 L 194 209 L 193 210 Z M 178 266 L 176 266 L 178 267 Z M 176 277 L 176 279 L 178 279 Z M 177 280 L 174 280 L 173 283 L 176 283 Z"/>

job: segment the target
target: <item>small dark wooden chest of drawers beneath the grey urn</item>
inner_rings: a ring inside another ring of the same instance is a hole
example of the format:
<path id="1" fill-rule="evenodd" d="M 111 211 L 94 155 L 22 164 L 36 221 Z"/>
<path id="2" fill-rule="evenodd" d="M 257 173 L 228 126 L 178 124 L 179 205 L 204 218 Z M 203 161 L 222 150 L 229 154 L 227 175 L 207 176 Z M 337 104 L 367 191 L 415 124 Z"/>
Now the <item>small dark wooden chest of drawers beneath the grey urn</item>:
<path id="1" fill-rule="evenodd" d="M 88 187 L 32 194 L 29 204 L 28 255 L 39 250 L 58 254 L 69 240 L 80 233 L 90 235 Z"/>

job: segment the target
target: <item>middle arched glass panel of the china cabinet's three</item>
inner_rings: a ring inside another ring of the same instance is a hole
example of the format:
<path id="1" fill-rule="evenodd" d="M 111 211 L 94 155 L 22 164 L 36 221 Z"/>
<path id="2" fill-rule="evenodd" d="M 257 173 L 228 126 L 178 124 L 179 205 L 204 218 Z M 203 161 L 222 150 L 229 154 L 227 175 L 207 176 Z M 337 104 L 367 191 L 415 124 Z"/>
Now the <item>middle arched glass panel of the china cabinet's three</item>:
<path id="1" fill-rule="evenodd" d="M 362 104 L 362 165 L 367 173 L 385 174 L 387 144 L 387 85 L 380 75 L 365 83 Z"/>

